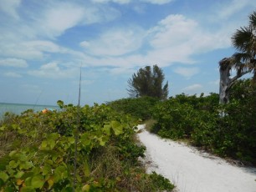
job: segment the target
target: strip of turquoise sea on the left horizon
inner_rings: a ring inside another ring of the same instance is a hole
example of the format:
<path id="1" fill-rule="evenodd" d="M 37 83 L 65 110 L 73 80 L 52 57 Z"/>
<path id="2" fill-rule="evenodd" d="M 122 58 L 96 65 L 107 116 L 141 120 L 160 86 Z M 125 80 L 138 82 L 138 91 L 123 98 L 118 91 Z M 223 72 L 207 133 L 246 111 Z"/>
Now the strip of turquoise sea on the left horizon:
<path id="1" fill-rule="evenodd" d="M 6 104 L 0 103 L 0 119 L 6 112 L 11 112 L 13 114 L 21 114 L 23 111 L 28 109 L 33 109 L 33 111 L 41 111 L 43 109 L 59 109 L 59 106 L 51 105 L 34 105 L 34 104 Z"/>

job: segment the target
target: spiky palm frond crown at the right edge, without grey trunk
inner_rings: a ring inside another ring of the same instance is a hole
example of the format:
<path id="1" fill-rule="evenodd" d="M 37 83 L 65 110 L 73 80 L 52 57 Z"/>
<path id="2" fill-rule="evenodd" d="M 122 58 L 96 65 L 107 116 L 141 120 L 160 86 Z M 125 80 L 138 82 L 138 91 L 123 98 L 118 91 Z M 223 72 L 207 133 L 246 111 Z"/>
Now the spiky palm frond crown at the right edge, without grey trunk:
<path id="1" fill-rule="evenodd" d="M 248 27 L 233 34 L 232 43 L 239 51 L 233 54 L 234 67 L 252 72 L 253 82 L 256 82 L 256 11 L 249 15 Z"/>

